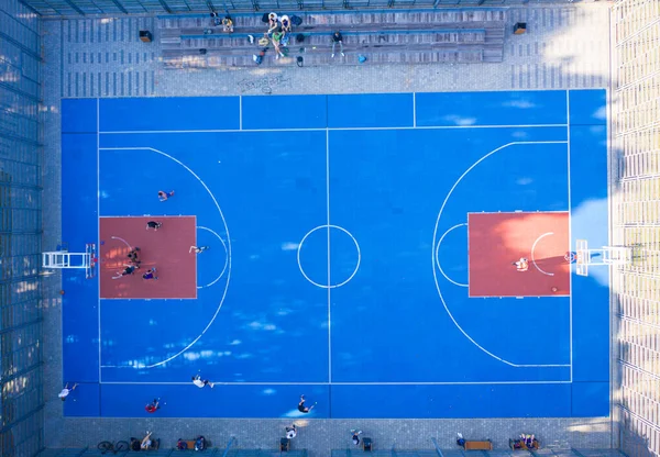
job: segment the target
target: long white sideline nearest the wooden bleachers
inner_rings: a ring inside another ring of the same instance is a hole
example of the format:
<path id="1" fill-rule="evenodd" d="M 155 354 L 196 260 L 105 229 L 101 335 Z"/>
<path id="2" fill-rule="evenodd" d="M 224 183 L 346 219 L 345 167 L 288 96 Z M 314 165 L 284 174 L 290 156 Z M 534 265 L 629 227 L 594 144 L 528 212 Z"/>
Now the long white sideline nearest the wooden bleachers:
<path id="1" fill-rule="evenodd" d="M 217 129 L 217 130 L 135 130 L 135 131 L 108 131 L 103 135 L 152 134 L 152 133 L 237 133 L 237 132 L 324 132 L 345 130 L 451 130 L 451 129 L 536 129 L 536 127 L 565 127 L 566 124 L 520 124 L 520 125 L 421 125 L 399 127 L 326 127 L 326 129 Z"/>

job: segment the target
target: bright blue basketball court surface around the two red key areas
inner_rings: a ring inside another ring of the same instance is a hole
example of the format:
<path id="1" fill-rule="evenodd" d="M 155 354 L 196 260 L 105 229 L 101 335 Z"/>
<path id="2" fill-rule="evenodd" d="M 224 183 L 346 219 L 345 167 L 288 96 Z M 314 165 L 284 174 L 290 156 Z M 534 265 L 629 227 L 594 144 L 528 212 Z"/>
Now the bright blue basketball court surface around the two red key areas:
<path id="1" fill-rule="evenodd" d="M 65 271 L 65 414 L 608 415 L 608 285 L 573 266 L 568 296 L 470 298 L 465 227 L 568 212 L 573 246 L 606 244 L 605 112 L 604 90 L 63 100 L 72 250 L 143 215 L 210 246 L 196 299 Z"/>

